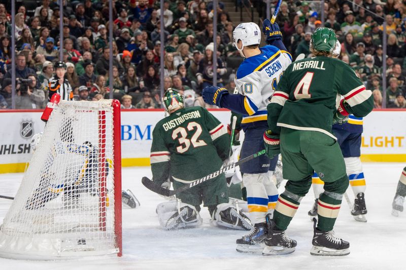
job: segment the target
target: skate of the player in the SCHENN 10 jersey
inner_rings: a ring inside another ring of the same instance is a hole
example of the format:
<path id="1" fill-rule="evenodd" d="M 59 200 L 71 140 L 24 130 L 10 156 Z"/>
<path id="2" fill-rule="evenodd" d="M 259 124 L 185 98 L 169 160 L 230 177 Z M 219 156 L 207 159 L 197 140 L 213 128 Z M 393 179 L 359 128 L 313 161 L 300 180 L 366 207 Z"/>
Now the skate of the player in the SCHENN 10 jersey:
<path id="1" fill-rule="evenodd" d="M 248 235 L 237 239 L 235 250 L 244 253 L 261 253 L 265 247 L 267 232 L 265 222 L 255 224 L 254 229 Z"/>

